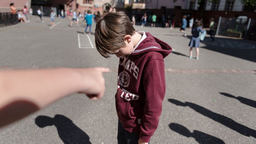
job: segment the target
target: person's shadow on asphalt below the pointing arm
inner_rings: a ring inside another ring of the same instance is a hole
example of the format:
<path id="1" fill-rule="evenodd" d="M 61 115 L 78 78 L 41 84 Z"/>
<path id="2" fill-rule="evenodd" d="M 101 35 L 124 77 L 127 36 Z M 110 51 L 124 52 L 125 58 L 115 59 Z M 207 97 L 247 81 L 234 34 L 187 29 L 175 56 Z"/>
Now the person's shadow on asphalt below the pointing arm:
<path id="1" fill-rule="evenodd" d="M 35 124 L 41 128 L 54 125 L 64 144 L 91 144 L 90 137 L 64 115 L 57 114 L 53 118 L 40 115 Z"/>

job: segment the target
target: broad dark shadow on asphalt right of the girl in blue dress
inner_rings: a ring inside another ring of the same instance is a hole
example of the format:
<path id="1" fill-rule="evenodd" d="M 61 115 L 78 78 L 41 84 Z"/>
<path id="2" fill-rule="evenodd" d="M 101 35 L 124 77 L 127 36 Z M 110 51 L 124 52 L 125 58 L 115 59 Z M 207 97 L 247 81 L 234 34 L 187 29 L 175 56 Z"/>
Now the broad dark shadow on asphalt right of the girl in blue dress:
<path id="1" fill-rule="evenodd" d="M 191 39 L 192 36 L 187 38 Z M 227 54 L 240 59 L 256 62 L 256 43 L 243 39 L 221 38 L 215 37 L 215 41 L 211 42 L 210 37 L 206 37 L 204 41 L 205 47 L 200 47 L 223 54 Z"/>

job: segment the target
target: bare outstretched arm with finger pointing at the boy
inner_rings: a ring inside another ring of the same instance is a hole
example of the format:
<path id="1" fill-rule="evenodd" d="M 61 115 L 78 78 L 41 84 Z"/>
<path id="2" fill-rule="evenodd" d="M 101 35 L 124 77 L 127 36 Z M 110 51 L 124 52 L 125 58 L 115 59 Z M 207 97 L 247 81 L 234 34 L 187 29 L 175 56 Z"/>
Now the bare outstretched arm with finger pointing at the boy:
<path id="1" fill-rule="evenodd" d="M 103 97 L 108 68 L 0 71 L 0 128 L 75 92 Z"/>

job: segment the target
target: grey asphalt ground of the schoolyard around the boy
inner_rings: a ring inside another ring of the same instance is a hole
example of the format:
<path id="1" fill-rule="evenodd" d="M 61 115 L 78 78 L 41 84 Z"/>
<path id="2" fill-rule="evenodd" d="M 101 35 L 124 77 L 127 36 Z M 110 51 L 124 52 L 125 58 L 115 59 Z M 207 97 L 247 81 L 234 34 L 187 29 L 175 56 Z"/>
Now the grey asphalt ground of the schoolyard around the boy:
<path id="1" fill-rule="evenodd" d="M 0 67 L 109 67 L 111 72 L 104 74 L 105 96 L 91 101 L 73 94 L 57 101 L 0 129 L 0 143 L 117 143 L 114 94 L 118 58 L 105 59 L 97 52 L 94 34 L 83 34 L 81 20 L 79 27 L 75 23 L 69 27 L 70 20 L 55 18 L 56 26 L 51 27 L 49 17 L 43 19 L 41 23 L 33 16 L 30 23 L 0 29 Z M 166 93 L 150 143 L 256 143 L 255 42 L 223 36 L 210 42 L 207 36 L 196 60 L 189 58 L 189 29 L 188 37 L 183 37 L 179 28 L 135 29 L 150 32 L 175 49 L 165 58 Z"/>

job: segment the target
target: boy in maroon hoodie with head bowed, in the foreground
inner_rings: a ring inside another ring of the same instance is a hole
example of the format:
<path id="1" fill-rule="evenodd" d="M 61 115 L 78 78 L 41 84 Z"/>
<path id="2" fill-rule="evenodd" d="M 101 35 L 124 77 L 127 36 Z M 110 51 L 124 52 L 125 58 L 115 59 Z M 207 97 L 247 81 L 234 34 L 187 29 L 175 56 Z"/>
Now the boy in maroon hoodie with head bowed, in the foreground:
<path id="1" fill-rule="evenodd" d="M 172 48 L 150 33 L 135 31 L 124 12 L 97 20 L 95 43 L 105 57 L 119 57 L 118 144 L 148 144 L 157 129 L 165 95 L 164 58 Z"/>

